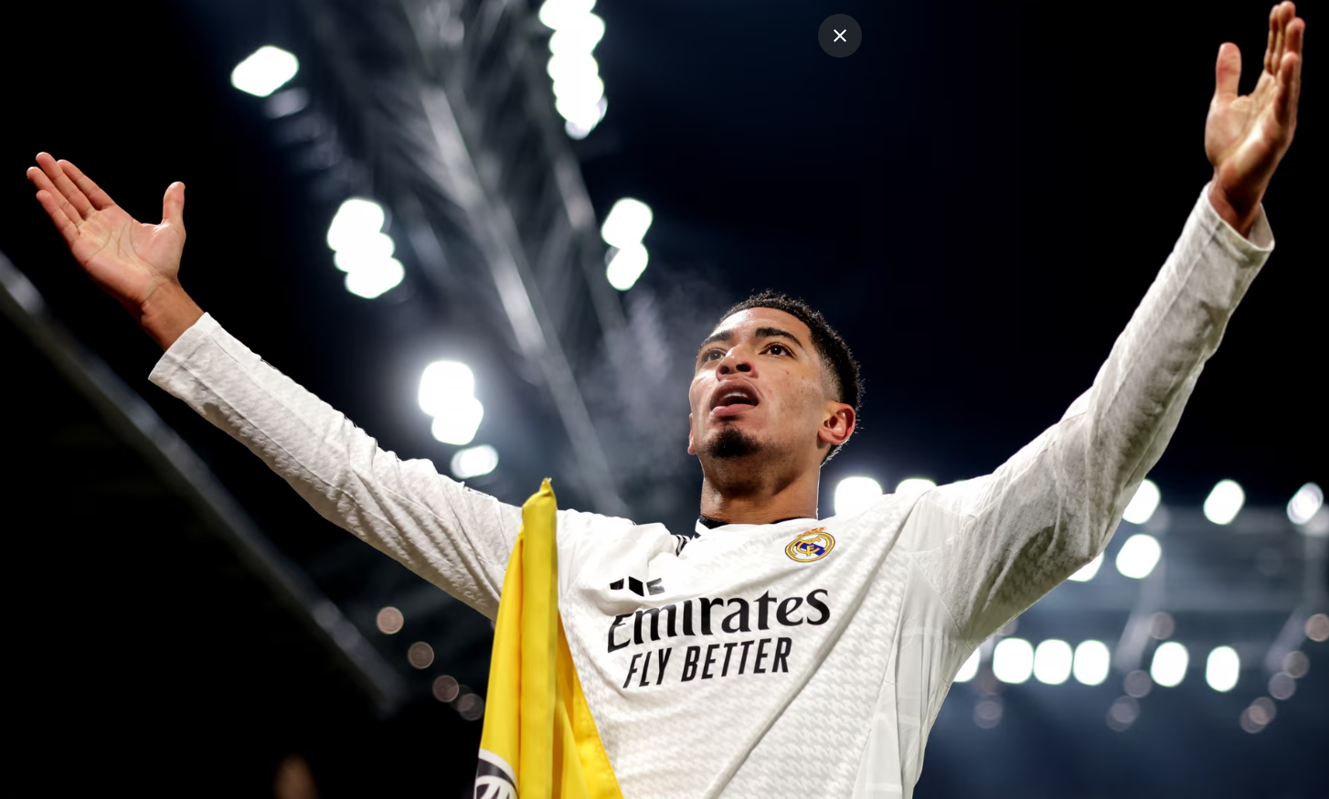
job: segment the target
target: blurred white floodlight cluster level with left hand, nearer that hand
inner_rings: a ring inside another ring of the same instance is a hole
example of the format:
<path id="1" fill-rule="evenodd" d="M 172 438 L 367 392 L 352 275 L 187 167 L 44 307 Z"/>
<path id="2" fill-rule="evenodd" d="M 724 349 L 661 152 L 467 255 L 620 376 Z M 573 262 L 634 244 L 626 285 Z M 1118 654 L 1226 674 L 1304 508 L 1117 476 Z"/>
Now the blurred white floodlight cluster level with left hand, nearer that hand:
<path id="1" fill-rule="evenodd" d="M 346 273 L 346 290 L 356 296 L 373 299 L 405 278 L 405 267 L 392 257 L 392 237 L 381 231 L 385 219 L 381 205 L 352 197 L 328 223 L 332 263 Z"/>

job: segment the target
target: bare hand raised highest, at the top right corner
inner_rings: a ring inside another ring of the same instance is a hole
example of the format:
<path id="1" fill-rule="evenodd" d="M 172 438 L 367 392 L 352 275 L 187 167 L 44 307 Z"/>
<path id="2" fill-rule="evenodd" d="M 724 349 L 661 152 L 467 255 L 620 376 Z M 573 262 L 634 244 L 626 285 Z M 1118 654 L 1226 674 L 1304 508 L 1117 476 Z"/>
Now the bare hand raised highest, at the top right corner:
<path id="1" fill-rule="evenodd" d="M 1280 3 L 1269 12 L 1269 44 L 1255 90 L 1237 94 L 1241 51 L 1219 48 L 1213 100 L 1204 124 L 1204 153 L 1213 165 L 1209 198 L 1243 235 L 1255 222 L 1269 178 L 1292 144 L 1301 94 L 1301 39 L 1306 23 L 1297 7 Z M 1228 213 L 1225 213 L 1228 211 Z"/>

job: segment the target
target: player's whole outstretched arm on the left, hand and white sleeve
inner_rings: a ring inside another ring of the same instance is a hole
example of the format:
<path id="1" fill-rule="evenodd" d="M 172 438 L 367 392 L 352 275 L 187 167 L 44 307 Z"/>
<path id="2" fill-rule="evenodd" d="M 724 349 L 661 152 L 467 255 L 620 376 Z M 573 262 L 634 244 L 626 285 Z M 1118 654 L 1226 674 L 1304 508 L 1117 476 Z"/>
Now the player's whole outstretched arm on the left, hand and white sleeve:
<path id="1" fill-rule="evenodd" d="M 185 186 L 134 221 L 68 161 L 37 157 L 37 199 L 84 271 L 165 350 L 150 380 L 249 447 L 320 516 L 493 617 L 521 509 L 401 460 L 263 362 L 179 285 Z M 561 512 L 566 516 L 570 512 Z"/>

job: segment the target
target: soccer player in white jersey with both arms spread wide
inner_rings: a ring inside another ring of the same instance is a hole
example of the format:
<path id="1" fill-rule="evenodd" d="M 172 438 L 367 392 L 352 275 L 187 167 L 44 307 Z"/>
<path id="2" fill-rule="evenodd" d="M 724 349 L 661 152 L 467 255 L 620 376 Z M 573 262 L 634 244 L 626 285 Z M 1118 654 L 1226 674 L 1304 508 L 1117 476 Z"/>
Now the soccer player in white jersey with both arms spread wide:
<path id="1" fill-rule="evenodd" d="M 625 796 L 913 792 L 956 671 L 1103 552 L 1272 251 L 1261 198 L 1296 128 L 1304 29 L 1292 3 L 1272 9 L 1248 96 L 1237 48 L 1220 47 L 1212 179 L 1092 387 L 991 475 L 819 518 L 819 469 L 855 428 L 848 348 L 779 295 L 719 320 L 688 392 L 695 529 L 557 516 L 560 613 Z M 153 383 L 326 518 L 494 617 L 518 508 L 384 452 L 205 314 L 178 281 L 183 185 L 141 225 L 72 164 L 37 162 L 77 262 L 163 347 Z"/>

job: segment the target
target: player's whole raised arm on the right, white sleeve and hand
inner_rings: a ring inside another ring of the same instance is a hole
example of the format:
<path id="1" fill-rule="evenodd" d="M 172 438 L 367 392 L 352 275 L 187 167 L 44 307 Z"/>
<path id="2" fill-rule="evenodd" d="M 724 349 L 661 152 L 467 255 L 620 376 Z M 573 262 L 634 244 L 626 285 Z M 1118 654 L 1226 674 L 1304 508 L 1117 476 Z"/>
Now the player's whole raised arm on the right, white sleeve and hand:
<path id="1" fill-rule="evenodd" d="M 1290 3 L 1275 7 L 1248 97 L 1236 94 L 1236 47 L 1220 48 L 1205 128 L 1213 181 L 1092 388 L 991 475 L 920 499 L 908 545 L 970 647 L 1103 550 L 1272 251 L 1260 199 L 1292 142 L 1302 29 Z"/>

